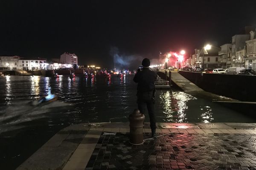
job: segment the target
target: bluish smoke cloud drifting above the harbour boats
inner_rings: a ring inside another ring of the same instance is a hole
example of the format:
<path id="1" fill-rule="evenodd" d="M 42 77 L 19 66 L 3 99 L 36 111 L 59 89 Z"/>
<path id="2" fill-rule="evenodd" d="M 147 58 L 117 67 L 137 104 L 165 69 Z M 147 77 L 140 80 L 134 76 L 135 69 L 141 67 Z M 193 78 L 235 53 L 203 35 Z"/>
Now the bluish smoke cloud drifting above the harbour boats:
<path id="1" fill-rule="evenodd" d="M 113 66 L 117 69 L 137 68 L 143 60 L 143 57 L 140 55 L 121 54 L 117 47 L 111 47 L 110 55 L 113 57 Z"/>

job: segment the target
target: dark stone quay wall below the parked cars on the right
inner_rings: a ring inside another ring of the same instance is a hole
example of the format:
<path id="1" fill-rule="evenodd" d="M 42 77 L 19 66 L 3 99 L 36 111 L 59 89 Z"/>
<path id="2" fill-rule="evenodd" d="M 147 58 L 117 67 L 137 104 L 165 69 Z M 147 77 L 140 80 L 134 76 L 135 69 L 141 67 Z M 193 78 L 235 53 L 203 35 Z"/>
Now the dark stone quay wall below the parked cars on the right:
<path id="1" fill-rule="evenodd" d="M 256 102 L 256 76 L 230 74 L 201 74 L 189 71 L 179 73 L 198 87 L 214 94 L 241 101 Z"/>

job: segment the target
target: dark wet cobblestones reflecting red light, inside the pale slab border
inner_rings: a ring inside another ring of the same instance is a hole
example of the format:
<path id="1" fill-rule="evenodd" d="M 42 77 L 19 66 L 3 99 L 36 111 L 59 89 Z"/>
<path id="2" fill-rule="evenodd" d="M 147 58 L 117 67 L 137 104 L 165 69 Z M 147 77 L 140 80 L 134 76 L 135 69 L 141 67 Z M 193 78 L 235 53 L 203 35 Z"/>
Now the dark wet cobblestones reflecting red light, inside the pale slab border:
<path id="1" fill-rule="evenodd" d="M 102 133 L 85 170 L 256 170 L 253 134 L 172 133 L 139 146 L 128 135 Z"/>

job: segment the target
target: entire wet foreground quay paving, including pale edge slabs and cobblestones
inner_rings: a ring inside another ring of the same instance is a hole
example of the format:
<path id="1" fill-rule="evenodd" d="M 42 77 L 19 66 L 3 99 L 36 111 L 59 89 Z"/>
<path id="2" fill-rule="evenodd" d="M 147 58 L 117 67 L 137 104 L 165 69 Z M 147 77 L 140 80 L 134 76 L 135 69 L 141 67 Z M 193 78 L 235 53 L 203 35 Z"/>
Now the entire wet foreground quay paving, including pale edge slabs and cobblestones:
<path id="1" fill-rule="evenodd" d="M 145 122 L 145 140 L 137 146 L 129 143 L 128 125 L 66 127 L 17 170 L 256 169 L 254 123 L 157 123 L 157 135 L 164 136 L 148 139 Z"/>

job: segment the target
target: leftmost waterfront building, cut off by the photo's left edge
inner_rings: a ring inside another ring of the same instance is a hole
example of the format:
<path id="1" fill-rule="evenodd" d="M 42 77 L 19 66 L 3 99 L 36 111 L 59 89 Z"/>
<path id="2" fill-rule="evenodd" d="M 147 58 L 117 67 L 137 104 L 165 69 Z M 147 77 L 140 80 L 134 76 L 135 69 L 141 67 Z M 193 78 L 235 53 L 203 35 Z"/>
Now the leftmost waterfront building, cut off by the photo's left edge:
<path id="1" fill-rule="evenodd" d="M 0 68 L 8 70 L 17 70 L 19 56 L 1 56 Z"/>

